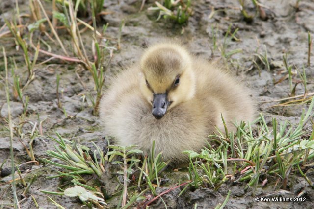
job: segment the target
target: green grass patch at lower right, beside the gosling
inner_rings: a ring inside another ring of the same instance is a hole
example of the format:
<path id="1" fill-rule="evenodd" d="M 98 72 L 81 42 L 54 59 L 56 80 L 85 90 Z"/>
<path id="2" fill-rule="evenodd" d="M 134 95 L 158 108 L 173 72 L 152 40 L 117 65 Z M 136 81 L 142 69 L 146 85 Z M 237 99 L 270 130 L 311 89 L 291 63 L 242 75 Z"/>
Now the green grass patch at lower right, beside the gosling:
<path id="1" fill-rule="evenodd" d="M 278 124 L 276 118 L 273 118 L 270 130 L 264 116 L 260 114 L 252 124 L 236 125 L 235 135 L 222 132 L 210 135 L 209 138 L 216 144 L 209 145 L 200 153 L 185 151 L 190 157 L 188 170 L 193 180 L 190 185 L 217 190 L 223 182 L 232 180 L 247 182 L 247 188 L 253 187 L 255 190 L 259 184 L 264 184 L 265 176 L 272 176 L 280 180 L 277 189 L 287 189 L 292 170 L 314 157 L 313 137 L 306 139 L 303 131 L 306 123 L 314 116 L 313 106 L 314 99 L 308 111 L 303 111 L 296 127 L 288 128 L 288 121 Z M 229 162 L 234 162 L 239 172 L 233 169 L 233 173 L 230 173 Z M 301 172 L 301 176 L 308 181 Z"/>

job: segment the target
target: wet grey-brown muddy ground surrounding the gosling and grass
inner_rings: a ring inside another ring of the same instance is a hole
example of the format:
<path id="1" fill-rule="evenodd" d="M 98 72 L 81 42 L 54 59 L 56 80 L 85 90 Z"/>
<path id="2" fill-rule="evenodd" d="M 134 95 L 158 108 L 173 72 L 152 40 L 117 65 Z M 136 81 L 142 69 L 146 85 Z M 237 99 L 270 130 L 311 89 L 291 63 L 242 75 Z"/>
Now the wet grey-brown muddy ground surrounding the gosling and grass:
<path id="1" fill-rule="evenodd" d="M 141 0 L 105 0 L 105 10 L 113 11 L 112 14 L 102 16 L 102 24 L 109 23 L 107 29 L 108 38 L 116 38 L 118 27 L 122 19 L 125 20 L 125 26 L 122 30 L 121 49 L 116 51 L 114 58 L 106 71 L 105 88 L 110 86 L 110 81 L 114 74 L 117 74 L 124 67 L 138 60 L 143 48 L 151 43 L 158 42 L 165 37 L 180 38 L 188 48 L 196 54 L 204 56 L 208 59 L 217 59 L 221 56 L 218 49 L 213 49 L 212 27 L 217 31 L 217 46 L 221 47 L 224 35 L 231 24 L 232 32 L 238 28 L 236 37 L 239 40 L 231 40 L 226 51 L 240 48 L 242 53 L 234 54 L 226 63 L 228 68 L 241 80 L 249 89 L 251 89 L 252 97 L 257 102 L 258 112 L 264 114 L 267 121 L 271 121 L 271 117 L 277 117 L 278 120 L 287 119 L 292 124 L 299 121 L 303 108 L 307 108 L 308 104 L 287 106 L 287 107 L 271 107 L 278 102 L 262 103 L 263 101 L 273 101 L 275 99 L 288 97 L 290 87 L 288 79 L 274 85 L 274 82 L 287 74 L 283 66 L 283 55 L 287 53 L 289 65 L 293 65 L 293 70 L 302 69 L 304 66 L 307 76 L 308 92 L 314 92 L 314 58 L 311 57 L 312 64 L 307 66 L 308 56 L 308 31 L 314 36 L 314 0 L 301 0 L 299 8 L 294 6 L 297 0 L 260 0 L 265 6 L 267 20 L 260 17 L 254 18 L 253 22 L 244 21 L 237 0 L 192 0 L 192 8 L 194 14 L 189 18 L 186 25 L 165 21 L 161 19 L 155 22 L 157 16 L 155 13 L 147 11 L 147 8 L 153 5 L 153 0 L 147 0 L 142 12 L 138 12 Z M 21 13 L 29 13 L 28 1 L 19 0 Z M 2 0 L 0 3 L 0 26 L 4 24 L 4 18 L 10 18 L 14 0 Z M 216 11 L 209 19 L 212 8 Z M 246 9 L 250 14 L 255 13 L 255 8 L 251 1 L 246 2 Z M 7 30 L 7 29 L 5 29 Z M 4 31 L 5 31 L 4 30 Z M 62 37 L 62 35 L 61 35 Z M 86 43 L 90 43 L 90 34 L 83 34 Z M 66 35 L 64 34 L 64 39 Z M 66 41 L 65 41 L 66 42 Z M 114 42 L 114 41 L 113 41 Z M 87 45 L 88 45 L 87 44 Z M 18 69 L 16 73 L 21 76 L 22 80 L 26 79 L 26 66 L 23 54 L 15 50 L 15 43 L 10 36 L 0 38 L 0 46 L 4 46 L 8 57 L 14 57 L 17 62 Z M 53 46 L 53 45 L 52 45 Z M 89 45 L 90 46 L 90 45 Z M 264 54 L 267 48 L 268 59 L 270 62 L 270 71 L 262 64 L 260 72 L 254 66 L 253 60 L 255 53 Z M 90 47 L 87 46 L 89 52 Z M 52 48 L 52 51 L 58 52 L 58 47 Z M 59 51 L 61 53 L 61 51 Z M 313 50 L 312 50 L 313 53 Z M 48 57 L 39 56 L 39 62 L 46 60 Z M 39 63 L 38 62 L 38 63 Z M 75 71 L 85 83 L 87 90 L 80 84 Z M 0 52 L 0 74 L 4 76 L 4 64 L 2 49 Z M 57 108 L 56 102 L 56 74 L 59 74 L 60 89 L 62 89 L 61 102 L 68 115 L 74 116 L 72 119 L 64 120 L 64 114 Z M 293 77 L 293 83 L 300 81 L 298 76 Z M 24 94 L 29 96 L 28 116 L 31 122 L 44 121 L 43 134 L 55 135 L 59 132 L 61 136 L 79 140 L 85 145 L 91 145 L 91 141 L 99 145 L 104 144 L 105 131 L 99 122 L 99 118 L 92 115 L 91 103 L 88 99 L 83 100 L 82 96 L 87 92 L 93 93 L 93 80 L 89 72 L 81 69 L 78 65 L 71 65 L 54 61 L 36 66 L 36 78 L 27 87 Z M 304 87 L 298 84 L 296 95 L 303 94 Z M 12 99 L 12 98 L 11 98 Z M 19 115 L 23 108 L 20 102 L 12 101 L 12 116 L 16 123 L 19 122 Z M 0 164 L 7 160 L 4 164 L 0 177 L 0 206 L 2 203 L 11 203 L 13 201 L 11 187 L 7 182 L 11 179 L 6 176 L 4 170 L 10 167 L 9 157 L 9 134 L 6 130 L 5 118 L 7 117 L 7 104 L 4 91 L 4 82 L 0 82 Z M 310 126 L 307 126 L 310 131 Z M 28 133 L 32 126 L 26 123 L 23 131 Z M 24 143 L 27 144 L 29 137 L 26 134 Z M 53 142 L 48 139 L 37 137 L 34 144 L 34 153 L 37 159 L 47 158 L 46 150 L 53 149 Z M 16 164 L 22 164 L 29 161 L 23 145 L 17 138 L 14 139 L 14 158 Z M 55 168 L 51 165 L 39 166 L 31 163 L 21 166 L 21 171 L 27 178 L 37 175 L 37 179 L 30 187 L 29 194 L 33 195 L 39 207 L 44 209 L 56 208 L 48 201 L 46 196 L 40 192 L 41 189 L 56 191 L 57 186 L 62 183 L 58 179 L 46 179 L 47 176 L 55 173 Z M 294 172 L 294 171 L 293 171 Z M 314 172 L 308 170 L 308 177 L 313 182 Z M 297 172 L 296 172 L 297 173 Z M 163 177 L 168 182 L 165 187 L 158 188 L 160 193 L 178 182 L 178 177 L 182 180 L 186 179 L 186 170 L 182 169 L 174 173 L 169 170 L 163 173 Z M 86 177 L 93 178 L 93 177 Z M 106 174 L 101 182 L 108 191 L 112 191 L 118 183 L 115 182 L 115 174 Z M 265 187 L 259 187 L 255 191 L 255 196 L 263 196 L 274 192 L 276 180 L 269 181 Z M 222 203 L 229 189 L 232 190 L 229 201 L 225 208 L 314 208 L 314 190 L 307 184 L 304 178 L 298 174 L 290 178 L 288 192 L 280 192 L 279 197 L 294 197 L 301 191 L 304 191 L 306 202 L 256 202 L 252 189 L 244 190 L 246 183 L 226 182 L 218 191 L 209 188 L 201 188 L 197 190 L 188 190 L 182 196 L 178 197 L 181 189 L 175 189 L 163 196 L 163 200 L 168 208 L 193 208 L 197 203 L 198 209 L 214 208 L 218 203 Z M 18 187 L 18 194 L 23 189 Z M 109 192 L 110 193 L 110 192 Z M 274 196 L 274 195 L 273 195 Z M 65 208 L 80 208 L 77 200 L 61 196 L 52 196 L 53 199 Z M 23 197 L 19 196 L 19 200 Z M 106 200 L 111 208 L 116 206 L 115 198 Z M 4 206 L 4 205 L 3 205 Z M 35 208 L 31 196 L 27 196 L 21 203 L 22 208 Z M 164 204 L 159 201 L 151 205 L 152 208 L 164 208 Z"/>

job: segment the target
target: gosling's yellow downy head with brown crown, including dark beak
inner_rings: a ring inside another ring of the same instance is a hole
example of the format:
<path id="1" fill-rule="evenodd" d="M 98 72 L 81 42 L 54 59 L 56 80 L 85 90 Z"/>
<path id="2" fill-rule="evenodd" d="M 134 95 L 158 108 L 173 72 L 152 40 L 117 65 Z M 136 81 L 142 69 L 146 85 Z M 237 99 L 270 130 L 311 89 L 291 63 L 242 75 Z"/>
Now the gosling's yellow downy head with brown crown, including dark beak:
<path id="1" fill-rule="evenodd" d="M 161 119 L 167 110 L 193 98 L 195 77 L 189 53 L 177 44 L 150 47 L 140 61 L 141 92 Z"/>

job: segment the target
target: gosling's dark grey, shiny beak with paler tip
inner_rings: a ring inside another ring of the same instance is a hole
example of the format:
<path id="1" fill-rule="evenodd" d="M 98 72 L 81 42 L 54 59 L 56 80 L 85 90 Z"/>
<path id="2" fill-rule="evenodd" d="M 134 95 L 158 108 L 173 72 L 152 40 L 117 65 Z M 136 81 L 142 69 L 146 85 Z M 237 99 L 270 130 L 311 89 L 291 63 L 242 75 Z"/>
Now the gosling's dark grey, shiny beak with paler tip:
<path id="1" fill-rule="evenodd" d="M 167 94 L 155 94 L 153 98 L 153 110 L 152 114 L 156 119 L 163 117 L 167 111 L 169 101 L 167 99 Z"/>

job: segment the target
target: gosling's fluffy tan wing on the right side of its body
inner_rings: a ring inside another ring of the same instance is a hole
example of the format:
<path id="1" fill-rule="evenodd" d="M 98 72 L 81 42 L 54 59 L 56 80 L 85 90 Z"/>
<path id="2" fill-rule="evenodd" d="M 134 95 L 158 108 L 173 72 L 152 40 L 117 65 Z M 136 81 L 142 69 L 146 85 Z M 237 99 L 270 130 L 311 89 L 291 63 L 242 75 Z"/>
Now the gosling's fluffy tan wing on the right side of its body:
<path id="1" fill-rule="evenodd" d="M 199 58 L 195 70 L 198 96 L 204 97 L 206 114 L 215 112 L 214 121 L 218 128 L 223 130 L 220 113 L 231 128 L 235 119 L 247 121 L 253 118 L 255 111 L 249 96 L 250 91 L 238 78 L 217 63 L 209 63 Z"/>

